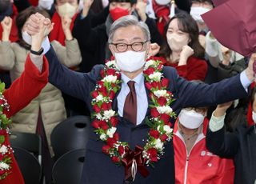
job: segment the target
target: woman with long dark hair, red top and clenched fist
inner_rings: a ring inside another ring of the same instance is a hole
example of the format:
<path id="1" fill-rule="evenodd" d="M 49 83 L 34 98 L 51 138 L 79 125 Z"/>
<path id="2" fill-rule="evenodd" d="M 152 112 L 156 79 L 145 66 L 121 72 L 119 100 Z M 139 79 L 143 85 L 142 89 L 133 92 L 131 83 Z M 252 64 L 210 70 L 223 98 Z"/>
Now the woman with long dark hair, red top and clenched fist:
<path id="1" fill-rule="evenodd" d="M 175 14 L 166 26 L 166 41 L 159 51 L 165 66 L 172 66 L 187 80 L 204 81 L 207 63 L 198 42 L 198 26 L 190 14 Z"/>

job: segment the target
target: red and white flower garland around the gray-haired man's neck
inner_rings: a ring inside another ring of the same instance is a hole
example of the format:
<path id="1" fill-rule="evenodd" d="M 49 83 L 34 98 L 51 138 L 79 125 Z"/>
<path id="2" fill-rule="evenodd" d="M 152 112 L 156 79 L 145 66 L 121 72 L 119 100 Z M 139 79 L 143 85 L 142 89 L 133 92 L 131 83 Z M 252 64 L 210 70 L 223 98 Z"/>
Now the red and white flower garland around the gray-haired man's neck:
<path id="1" fill-rule="evenodd" d="M 153 166 L 164 154 L 164 144 L 172 138 L 170 118 L 176 118 L 176 114 L 170 108 L 174 102 L 173 94 L 167 90 L 169 80 L 163 77 L 161 61 L 150 59 L 146 61 L 144 76 L 146 88 L 150 90 L 150 118 L 146 118 L 146 124 L 150 126 L 146 145 L 142 148 L 142 158 L 146 166 Z M 118 118 L 112 110 L 112 101 L 120 90 L 121 74 L 114 60 L 106 62 L 101 71 L 102 79 L 97 82 L 95 90 L 91 93 L 94 113 L 94 132 L 106 142 L 102 151 L 108 154 L 113 162 L 121 164 L 130 148 L 128 142 L 121 142 L 116 132 Z"/>

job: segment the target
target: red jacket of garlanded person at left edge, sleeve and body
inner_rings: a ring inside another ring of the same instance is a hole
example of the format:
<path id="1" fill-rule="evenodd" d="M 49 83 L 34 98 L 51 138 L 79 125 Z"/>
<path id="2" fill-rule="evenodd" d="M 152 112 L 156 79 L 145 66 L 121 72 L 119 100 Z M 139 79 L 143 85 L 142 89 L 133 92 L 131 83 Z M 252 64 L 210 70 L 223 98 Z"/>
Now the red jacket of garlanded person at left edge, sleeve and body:
<path id="1" fill-rule="evenodd" d="M 44 63 L 42 67 L 42 73 L 31 62 L 30 57 L 26 58 L 25 70 L 17 78 L 9 89 L 5 90 L 3 95 L 10 105 L 10 111 L 3 111 L 8 118 L 22 110 L 23 107 L 28 105 L 30 101 L 37 97 L 42 88 L 46 86 L 48 82 L 48 62 L 44 57 Z M 4 134 L 6 137 L 6 144 L 10 145 L 9 138 L 6 134 L 6 130 L 0 131 L 0 134 Z M 1 180 L 1 184 L 24 184 L 22 174 L 18 168 L 18 164 L 14 159 L 14 155 L 11 154 L 13 163 L 11 164 L 11 174 L 7 175 L 4 180 Z"/>

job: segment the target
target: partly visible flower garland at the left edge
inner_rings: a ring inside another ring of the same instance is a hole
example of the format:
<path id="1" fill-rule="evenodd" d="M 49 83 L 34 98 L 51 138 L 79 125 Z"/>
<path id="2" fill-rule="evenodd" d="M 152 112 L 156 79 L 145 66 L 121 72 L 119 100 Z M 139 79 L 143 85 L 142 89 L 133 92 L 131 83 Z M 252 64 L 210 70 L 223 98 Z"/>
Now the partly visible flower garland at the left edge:
<path id="1" fill-rule="evenodd" d="M 0 83 L 0 180 L 10 174 L 11 153 L 13 151 L 10 145 L 6 144 L 5 134 L 9 131 L 11 120 L 6 117 L 6 114 L 3 114 L 3 110 L 10 110 L 10 106 L 2 94 L 4 90 L 5 84 Z"/>

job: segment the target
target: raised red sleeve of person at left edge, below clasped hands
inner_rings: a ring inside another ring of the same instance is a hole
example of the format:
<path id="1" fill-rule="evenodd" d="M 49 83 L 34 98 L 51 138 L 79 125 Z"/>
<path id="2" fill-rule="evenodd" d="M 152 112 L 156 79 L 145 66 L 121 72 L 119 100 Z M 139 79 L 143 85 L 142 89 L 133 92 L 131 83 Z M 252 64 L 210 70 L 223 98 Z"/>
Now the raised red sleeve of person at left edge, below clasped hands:
<path id="1" fill-rule="evenodd" d="M 48 82 L 48 74 L 48 62 L 45 56 L 43 57 L 42 73 L 31 62 L 30 56 L 27 56 L 25 70 L 22 75 L 3 93 L 10 105 L 10 111 L 4 111 L 7 117 L 22 110 L 33 98 L 38 96 Z"/>

